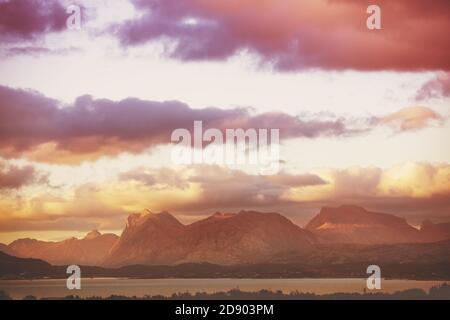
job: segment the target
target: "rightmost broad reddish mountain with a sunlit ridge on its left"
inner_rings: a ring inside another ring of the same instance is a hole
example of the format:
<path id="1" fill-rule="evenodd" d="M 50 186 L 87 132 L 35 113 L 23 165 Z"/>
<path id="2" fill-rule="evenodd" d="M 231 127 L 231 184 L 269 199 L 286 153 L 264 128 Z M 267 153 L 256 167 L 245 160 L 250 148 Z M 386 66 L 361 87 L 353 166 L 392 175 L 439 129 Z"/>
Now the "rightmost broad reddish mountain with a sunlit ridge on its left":
<path id="1" fill-rule="evenodd" d="M 403 218 L 348 205 L 322 208 L 305 228 L 316 234 L 321 241 L 332 243 L 389 244 L 424 241 L 421 232 Z"/>

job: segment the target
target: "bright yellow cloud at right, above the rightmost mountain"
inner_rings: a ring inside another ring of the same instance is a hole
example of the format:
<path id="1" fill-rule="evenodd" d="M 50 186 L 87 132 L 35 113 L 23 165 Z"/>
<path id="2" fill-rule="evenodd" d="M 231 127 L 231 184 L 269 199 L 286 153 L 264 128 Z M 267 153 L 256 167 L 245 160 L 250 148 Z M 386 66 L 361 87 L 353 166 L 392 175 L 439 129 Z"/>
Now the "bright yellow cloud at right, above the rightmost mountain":
<path id="1" fill-rule="evenodd" d="M 285 199 L 291 201 L 341 202 L 373 201 L 387 198 L 433 199 L 450 196 L 450 166 L 406 162 L 389 169 L 377 167 L 351 167 L 322 169 L 314 172 L 328 184 L 304 189 L 291 188 Z"/>

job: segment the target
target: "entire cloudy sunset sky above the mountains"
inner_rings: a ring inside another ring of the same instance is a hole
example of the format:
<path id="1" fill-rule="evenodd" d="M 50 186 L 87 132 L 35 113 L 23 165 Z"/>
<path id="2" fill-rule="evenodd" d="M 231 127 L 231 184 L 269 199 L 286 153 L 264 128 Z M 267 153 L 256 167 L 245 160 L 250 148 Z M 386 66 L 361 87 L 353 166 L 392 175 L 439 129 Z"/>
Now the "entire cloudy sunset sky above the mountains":
<path id="1" fill-rule="evenodd" d="M 448 0 L 0 0 L 0 242 L 119 233 L 145 208 L 450 221 L 449 17 Z M 195 120 L 280 129 L 280 172 L 174 164 Z"/>

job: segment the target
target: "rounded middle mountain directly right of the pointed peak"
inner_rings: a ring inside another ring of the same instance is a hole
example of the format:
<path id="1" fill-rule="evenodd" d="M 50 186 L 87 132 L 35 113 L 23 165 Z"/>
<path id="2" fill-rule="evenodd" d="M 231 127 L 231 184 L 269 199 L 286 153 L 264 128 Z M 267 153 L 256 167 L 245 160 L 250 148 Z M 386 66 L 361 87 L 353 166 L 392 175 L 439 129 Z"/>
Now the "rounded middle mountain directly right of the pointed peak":
<path id="1" fill-rule="evenodd" d="M 315 237 L 278 213 L 215 214 L 188 226 L 186 261 L 239 264 L 310 252 Z"/>

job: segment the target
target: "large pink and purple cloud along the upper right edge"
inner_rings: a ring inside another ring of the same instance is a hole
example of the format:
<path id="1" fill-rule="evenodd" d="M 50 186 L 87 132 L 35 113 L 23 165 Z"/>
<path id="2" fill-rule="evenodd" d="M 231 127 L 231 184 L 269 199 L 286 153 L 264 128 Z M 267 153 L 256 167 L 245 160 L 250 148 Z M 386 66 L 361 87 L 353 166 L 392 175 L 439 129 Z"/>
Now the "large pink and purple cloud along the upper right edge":
<path id="1" fill-rule="evenodd" d="M 162 38 L 172 57 L 220 60 L 250 50 L 278 69 L 449 70 L 447 0 L 135 0 L 139 18 L 116 26 L 124 46 Z"/>

